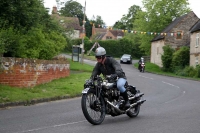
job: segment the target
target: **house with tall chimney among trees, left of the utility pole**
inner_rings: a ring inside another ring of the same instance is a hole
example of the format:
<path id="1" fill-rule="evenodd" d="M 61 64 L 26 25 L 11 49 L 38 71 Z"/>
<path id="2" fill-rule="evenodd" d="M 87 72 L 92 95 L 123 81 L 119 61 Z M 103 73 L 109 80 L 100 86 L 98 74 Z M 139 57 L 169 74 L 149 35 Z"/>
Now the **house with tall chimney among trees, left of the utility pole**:
<path id="1" fill-rule="evenodd" d="M 53 7 L 52 15 L 51 17 L 55 20 L 57 20 L 60 25 L 62 25 L 65 28 L 66 35 L 76 39 L 76 38 L 82 38 L 82 27 L 79 24 L 79 19 L 77 17 L 64 17 L 60 16 L 57 12 L 57 7 Z"/>

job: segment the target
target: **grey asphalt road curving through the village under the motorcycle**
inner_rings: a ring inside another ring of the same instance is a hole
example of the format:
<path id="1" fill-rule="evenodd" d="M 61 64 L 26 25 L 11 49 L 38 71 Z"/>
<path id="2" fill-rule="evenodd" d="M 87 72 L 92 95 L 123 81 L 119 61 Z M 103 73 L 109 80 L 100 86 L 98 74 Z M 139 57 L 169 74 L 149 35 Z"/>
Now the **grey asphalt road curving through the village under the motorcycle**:
<path id="1" fill-rule="evenodd" d="M 138 117 L 107 116 L 93 126 L 79 97 L 0 110 L 0 133 L 200 133 L 200 82 L 122 68 L 147 100 Z"/>

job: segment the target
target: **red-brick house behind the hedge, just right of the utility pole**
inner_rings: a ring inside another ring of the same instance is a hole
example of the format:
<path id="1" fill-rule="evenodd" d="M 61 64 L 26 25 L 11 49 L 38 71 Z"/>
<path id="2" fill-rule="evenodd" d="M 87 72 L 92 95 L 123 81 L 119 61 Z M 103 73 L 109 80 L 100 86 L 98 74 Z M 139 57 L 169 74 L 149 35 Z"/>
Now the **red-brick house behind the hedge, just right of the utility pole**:
<path id="1" fill-rule="evenodd" d="M 117 40 L 124 37 L 124 32 L 122 30 L 110 30 L 104 28 L 95 28 L 92 26 L 92 38 L 96 40 Z"/>

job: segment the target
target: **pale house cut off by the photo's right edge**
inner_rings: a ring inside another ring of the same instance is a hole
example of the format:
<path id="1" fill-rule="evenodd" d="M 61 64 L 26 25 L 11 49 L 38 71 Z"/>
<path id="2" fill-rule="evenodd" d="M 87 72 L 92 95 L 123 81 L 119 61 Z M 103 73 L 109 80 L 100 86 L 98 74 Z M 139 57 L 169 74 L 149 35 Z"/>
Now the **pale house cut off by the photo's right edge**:
<path id="1" fill-rule="evenodd" d="M 200 20 L 190 30 L 190 66 L 200 64 Z"/>

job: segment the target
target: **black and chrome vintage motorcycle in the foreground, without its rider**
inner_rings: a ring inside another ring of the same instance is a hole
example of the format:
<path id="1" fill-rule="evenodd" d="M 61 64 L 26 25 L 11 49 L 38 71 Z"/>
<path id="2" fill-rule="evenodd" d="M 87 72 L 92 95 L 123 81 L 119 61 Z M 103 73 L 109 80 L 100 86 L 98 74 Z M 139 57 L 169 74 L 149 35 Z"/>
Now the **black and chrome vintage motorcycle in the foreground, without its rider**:
<path id="1" fill-rule="evenodd" d="M 130 108 L 125 108 L 125 100 L 117 89 L 117 79 L 111 76 L 102 78 L 97 76 L 94 80 L 88 79 L 82 91 L 81 106 L 87 119 L 93 125 L 99 125 L 104 121 L 105 115 L 118 116 L 126 114 L 129 117 L 136 117 L 140 112 L 140 106 L 146 100 L 143 93 L 136 90 L 136 87 L 126 83 Z"/>

